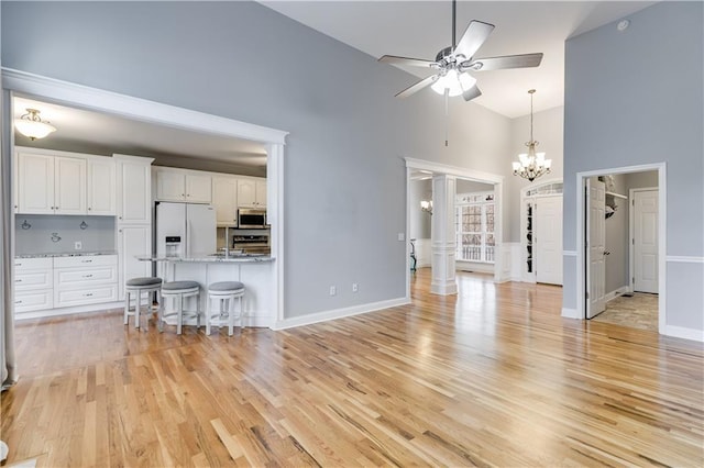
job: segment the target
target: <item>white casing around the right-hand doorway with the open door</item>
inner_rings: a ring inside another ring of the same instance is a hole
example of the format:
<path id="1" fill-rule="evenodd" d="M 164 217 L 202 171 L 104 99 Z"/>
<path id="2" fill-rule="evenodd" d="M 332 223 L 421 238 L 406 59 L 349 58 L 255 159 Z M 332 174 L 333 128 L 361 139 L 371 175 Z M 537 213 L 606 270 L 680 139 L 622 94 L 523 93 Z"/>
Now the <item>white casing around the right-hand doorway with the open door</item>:
<path id="1" fill-rule="evenodd" d="M 625 166 L 604 168 L 596 170 L 587 170 L 576 172 L 576 193 L 575 193 L 575 213 L 576 213 L 576 317 L 586 320 L 586 265 L 585 265 L 585 212 L 584 212 L 584 188 L 586 179 L 595 176 L 645 172 L 650 170 L 658 171 L 658 333 L 666 334 L 667 324 L 667 268 L 666 268 L 666 246 L 667 246 L 667 163 L 652 163 L 638 166 Z M 564 255 L 568 255 L 565 252 Z"/>

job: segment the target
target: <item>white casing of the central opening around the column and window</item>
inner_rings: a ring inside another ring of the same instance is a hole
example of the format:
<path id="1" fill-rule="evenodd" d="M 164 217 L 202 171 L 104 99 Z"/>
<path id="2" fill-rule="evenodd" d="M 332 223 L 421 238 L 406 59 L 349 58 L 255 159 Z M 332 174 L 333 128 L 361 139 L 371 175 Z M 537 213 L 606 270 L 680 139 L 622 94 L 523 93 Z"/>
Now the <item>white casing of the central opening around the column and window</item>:
<path id="1" fill-rule="evenodd" d="M 438 175 L 454 176 L 460 179 L 474 180 L 477 182 L 494 185 L 494 220 L 498 223 L 494 224 L 494 236 L 497 241 L 494 252 L 494 281 L 502 282 L 502 266 L 504 258 L 503 248 L 503 200 L 504 200 L 504 176 L 483 172 L 481 170 L 468 169 L 464 167 L 449 166 L 440 163 L 433 163 L 425 159 L 415 159 L 406 157 L 406 239 L 410 233 L 410 174 L 414 170 L 428 170 Z M 431 234 L 432 235 L 432 234 Z M 406 242 L 406 300 L 410 301 L 410 243 Z"/>

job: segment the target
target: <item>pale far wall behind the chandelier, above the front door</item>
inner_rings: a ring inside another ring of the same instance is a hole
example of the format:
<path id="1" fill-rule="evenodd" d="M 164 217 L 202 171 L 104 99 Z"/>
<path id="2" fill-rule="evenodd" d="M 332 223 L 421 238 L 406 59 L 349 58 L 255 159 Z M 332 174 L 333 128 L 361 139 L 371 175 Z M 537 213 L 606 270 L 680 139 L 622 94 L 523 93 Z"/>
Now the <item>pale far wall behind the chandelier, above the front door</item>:
<path id="1" fill-rule="evenodd" d="M 526 109 L 530 111 L 529 94 L 526 90 Z M 534 102 L 540 99 L 540 90 L 535 94 Z M 544 152 L 548 159 L 552 159 L 550 174 L 529 182 L 528 180 L 512 176 L 507 179 L 508 202 L 504 204 L 508 215 L 515 222 L 510 223 L 507 231 L 510 242 L 520 242 L 520 190 L 531 185 L 542 183 L 543 180 L 562 179 L 562 146 L 563 146 L 563 112 L 564 108 L 553 108 L 534 114 L 532 136 L 538 141 L 536 149 Z M 528 148 L 525 143 L 530 140 L 530 115 L 514 119 L 510 123 L 510 160 L 518 160 L 520 153 Z"/>

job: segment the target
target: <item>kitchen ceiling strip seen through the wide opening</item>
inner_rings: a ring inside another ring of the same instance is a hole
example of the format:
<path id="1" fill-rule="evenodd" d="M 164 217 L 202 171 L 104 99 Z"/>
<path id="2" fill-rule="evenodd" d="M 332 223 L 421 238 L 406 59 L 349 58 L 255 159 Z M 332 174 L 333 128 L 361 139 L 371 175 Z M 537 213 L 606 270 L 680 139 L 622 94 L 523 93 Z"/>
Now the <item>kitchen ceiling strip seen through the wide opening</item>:
<path id="1" fill-rule="evenodd" d="M 34 142 L 14 132 L 18 146 L 106 156 L 113 153 L 151 156 L 157 159 L 156 164 L 160 159 L 168 161 L 166 165 L 193 158 L 257 170 L 266 167 L 266 151 L 256 142 L 155 125 L 24 97 L 15 97 L 13 108 L 15 119 L 26 113 L 28 108 L 37 109 L 42 120 L 57 129 L 46 138 Z"/>

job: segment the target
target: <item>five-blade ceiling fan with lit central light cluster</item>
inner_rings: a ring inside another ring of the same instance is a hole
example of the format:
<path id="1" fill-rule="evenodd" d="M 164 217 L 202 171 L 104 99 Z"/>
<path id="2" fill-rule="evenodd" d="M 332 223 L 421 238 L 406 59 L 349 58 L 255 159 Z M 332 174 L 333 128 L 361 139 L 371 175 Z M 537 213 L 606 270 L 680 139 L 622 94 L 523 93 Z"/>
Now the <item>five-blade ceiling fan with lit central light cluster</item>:
<path id="1" fill-rule="evenodd" d="M 409 86 L 399 93 L 397 98 L 407 98 L 421 89 L 431 86 L 433 91 L 449 97 L 460 96 L 465 101 L 482 96 L 482 91 L 476 86 L 476 78 L 469 71 L 487 71 L 505 68 L 527 68 L 537 67 L 542 60 L 542 53 L 504 55 L 501 57 L 474 58 L 474 54 L 484 44 L 488 35 L 494 30 L 493 24 L 482 21 L 470 21 L 460 42 L 455 42 L 455 15 L 457 0 L 452 0 L 452 45 L 438 52 L 435 62 L 421 58 L 398 57 L 395 55 L 384 55 L 378 59 L 385 64 L 406 65 L 411 67 L 422 67 L 436 70 L 435 75 L 421 79 Z"/>

